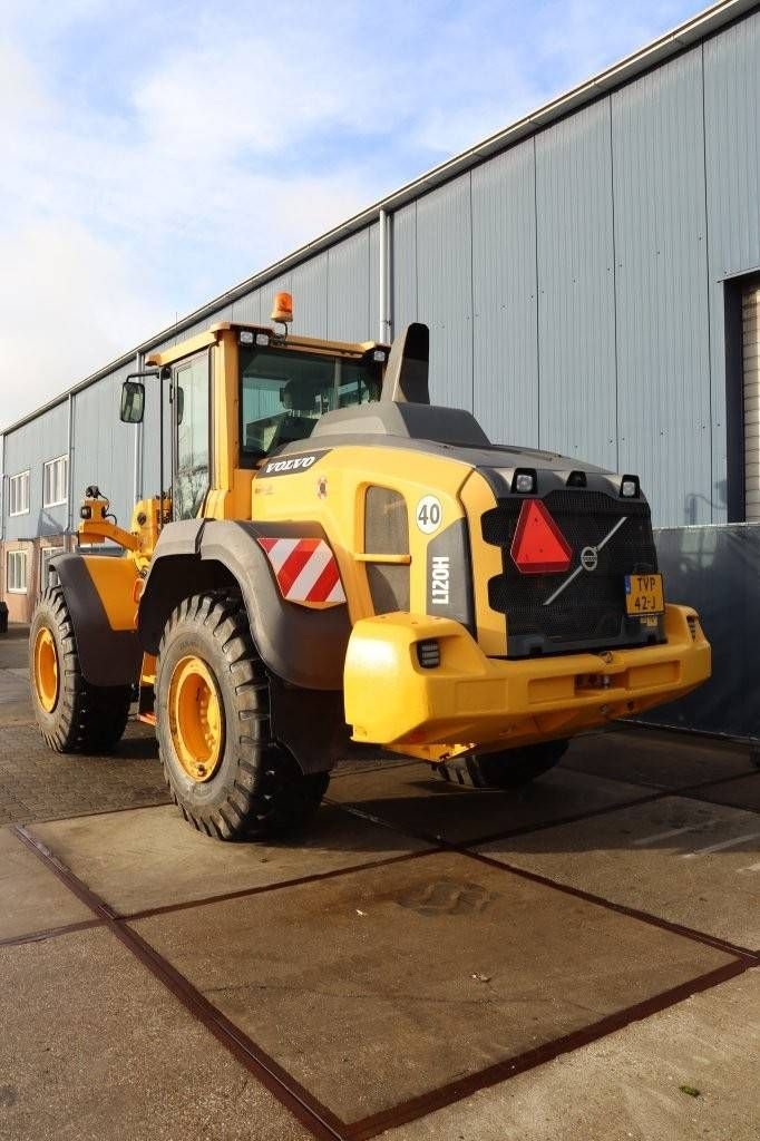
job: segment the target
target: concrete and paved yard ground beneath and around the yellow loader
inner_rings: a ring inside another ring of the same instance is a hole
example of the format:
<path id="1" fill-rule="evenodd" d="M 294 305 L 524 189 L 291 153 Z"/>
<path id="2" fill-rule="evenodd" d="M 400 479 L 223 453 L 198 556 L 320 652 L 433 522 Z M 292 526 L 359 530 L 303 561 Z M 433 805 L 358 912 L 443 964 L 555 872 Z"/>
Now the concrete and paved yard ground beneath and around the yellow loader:
<path id="1" fill-rule="evenodd" d="M 224 845 L 152 734 L 56 756 L 0 639 L 0 1136 L 760 1132 L 760 774 L 621 729 L 520 793 L 343 767 Z"/>

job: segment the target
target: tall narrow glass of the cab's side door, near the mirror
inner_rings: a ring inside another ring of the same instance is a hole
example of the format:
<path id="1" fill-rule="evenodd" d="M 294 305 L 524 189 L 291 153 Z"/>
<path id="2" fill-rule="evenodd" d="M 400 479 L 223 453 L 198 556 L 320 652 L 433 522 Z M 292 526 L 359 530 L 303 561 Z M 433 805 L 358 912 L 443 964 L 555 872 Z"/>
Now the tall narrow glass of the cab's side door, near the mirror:
<path id="1" fill-rule="evenodd" d="M 209 354 L 202 353 L 175 369 L 175 519 L 194 519 L 210 486 L 209 361 Z"/>

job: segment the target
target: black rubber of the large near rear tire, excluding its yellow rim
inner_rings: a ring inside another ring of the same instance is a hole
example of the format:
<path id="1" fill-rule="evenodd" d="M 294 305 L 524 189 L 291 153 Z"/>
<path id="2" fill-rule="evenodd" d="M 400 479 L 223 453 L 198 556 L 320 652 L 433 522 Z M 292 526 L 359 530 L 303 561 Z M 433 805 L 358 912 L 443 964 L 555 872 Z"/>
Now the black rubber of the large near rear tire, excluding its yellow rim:
<path id="1" fill-rule="evenodd" d="M 172 671 L 185 656 L 211 670 L 224 706 L 219 766 L 195 782 L 181 767 L 169 725 Z M 155 679 L 159 752 L 172 799 L 185 819 L 219 840 L 265 839 L 301 828 L 320 807 L 329 772 L 301 772 L 272 738 L 269 679 L 238 594 L 204 592 L 185 599 L 167 622 Z"/>

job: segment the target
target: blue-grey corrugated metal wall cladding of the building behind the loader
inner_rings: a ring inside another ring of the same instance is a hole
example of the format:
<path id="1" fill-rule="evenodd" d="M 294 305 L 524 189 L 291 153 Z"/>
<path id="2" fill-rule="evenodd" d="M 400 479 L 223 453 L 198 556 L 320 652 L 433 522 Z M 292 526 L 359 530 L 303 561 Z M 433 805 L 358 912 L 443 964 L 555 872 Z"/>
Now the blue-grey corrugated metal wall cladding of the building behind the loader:
<path id="1" fill-rule="evenodd" d="M 393 215 L 393 318 L 430 325 L 434 399 L 472 408 L 495 439 L 639 472 L 660 525 L 723 521 L 723 282 L 760 267 L 759 103 L 755 11 Z M 266 322 L 285 289 L 294 331 L 377 337 L 378 259 L 374 224 L 219 318 Z M 115 420 L 119 379 L 76 397 L 74 485 L 97 479 L 121 511 L 134 430 Z M 23 462 L 41 488 L 60 415 L 8 436 L 7 474 Z"/>

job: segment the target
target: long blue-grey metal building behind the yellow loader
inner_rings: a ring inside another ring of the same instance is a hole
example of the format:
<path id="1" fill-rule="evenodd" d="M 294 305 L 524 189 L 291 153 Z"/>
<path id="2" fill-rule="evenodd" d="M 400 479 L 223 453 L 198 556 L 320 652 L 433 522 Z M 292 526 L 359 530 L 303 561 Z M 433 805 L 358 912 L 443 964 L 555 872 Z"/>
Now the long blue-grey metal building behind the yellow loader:
<path id="1" fill-rule="evenodd" d="M 640 475 L 657 526 L 760 520 L 760 11 L 726 0 L 189 314 L 3 434 L 2 597 L 27 616 L 96 482 L 159 489 L 123 377 L 218 319 L 431 330 L 437 403 Z"/>

